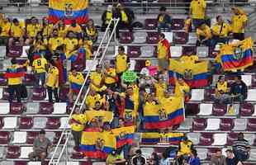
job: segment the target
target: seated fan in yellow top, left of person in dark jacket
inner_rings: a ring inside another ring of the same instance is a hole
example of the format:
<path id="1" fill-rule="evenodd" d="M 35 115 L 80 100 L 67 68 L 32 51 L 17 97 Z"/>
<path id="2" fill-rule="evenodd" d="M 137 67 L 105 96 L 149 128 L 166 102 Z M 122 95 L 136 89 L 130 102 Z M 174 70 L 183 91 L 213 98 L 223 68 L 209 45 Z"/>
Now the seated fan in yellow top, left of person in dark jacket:
<path id="1" fill-rule="evenodd" d="M 230 103 L 230 95 L 228 94 L 228 82 L 224 76 L 220 76 L 216 83 L 215 99 L 219 103 Z"/>

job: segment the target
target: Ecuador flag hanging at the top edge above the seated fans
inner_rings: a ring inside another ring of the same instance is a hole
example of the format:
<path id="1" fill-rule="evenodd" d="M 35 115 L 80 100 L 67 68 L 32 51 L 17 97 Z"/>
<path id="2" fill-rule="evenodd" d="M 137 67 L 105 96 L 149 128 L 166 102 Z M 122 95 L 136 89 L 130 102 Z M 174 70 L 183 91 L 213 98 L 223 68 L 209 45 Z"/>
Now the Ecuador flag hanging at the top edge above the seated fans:
<path id="1" fill-rule="evenodd" d="M 64 20 L 70 24 L 76 20 L 78 24 L 88 21 L 88 0 L 49 0 L 49 21 L 56 23 Z"/>

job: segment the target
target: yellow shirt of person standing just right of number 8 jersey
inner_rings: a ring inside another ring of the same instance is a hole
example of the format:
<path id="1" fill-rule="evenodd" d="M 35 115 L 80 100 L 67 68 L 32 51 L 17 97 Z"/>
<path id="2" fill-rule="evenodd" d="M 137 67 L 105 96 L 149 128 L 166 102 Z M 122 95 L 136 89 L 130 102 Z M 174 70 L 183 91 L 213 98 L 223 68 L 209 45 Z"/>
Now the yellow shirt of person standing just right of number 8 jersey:
<path id="1" fill-rule="evenodd" d="M 59 87 L 59 69 L 49 68 L 46 85 L 48 87 Z"/>

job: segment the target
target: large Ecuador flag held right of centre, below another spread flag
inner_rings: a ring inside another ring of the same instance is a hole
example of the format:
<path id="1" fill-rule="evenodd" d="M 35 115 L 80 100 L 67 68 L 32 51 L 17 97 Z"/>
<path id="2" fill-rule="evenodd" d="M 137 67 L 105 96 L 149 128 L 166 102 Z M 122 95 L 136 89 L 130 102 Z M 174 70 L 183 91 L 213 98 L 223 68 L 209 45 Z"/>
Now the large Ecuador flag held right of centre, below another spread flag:
<path id="1" fill-rule="evenodd" d="M 144 108 L 145 129 L 165 129 L 173 125 L 179 125 L 185 120 L 183 97 L 173 97 L 168 110 L 160 106 Z"/>

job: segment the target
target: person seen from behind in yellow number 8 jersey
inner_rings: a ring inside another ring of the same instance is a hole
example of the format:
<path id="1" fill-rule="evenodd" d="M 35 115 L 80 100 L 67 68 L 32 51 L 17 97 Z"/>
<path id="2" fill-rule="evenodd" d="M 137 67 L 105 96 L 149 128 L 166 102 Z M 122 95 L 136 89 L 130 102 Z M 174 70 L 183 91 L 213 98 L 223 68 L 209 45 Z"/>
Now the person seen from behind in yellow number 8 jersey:
<path id="1" fill-rule="evenodd" d="M 32 64 L 33 71 L 36 77 L 36 87 L 39 87 L 39 82 L 41 85 L 45 84 L 45 73 L 47 70 L 47 60 L 44 57 L 35 59 Z"/>

